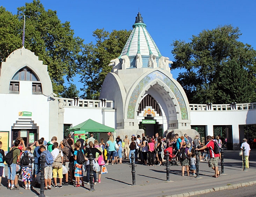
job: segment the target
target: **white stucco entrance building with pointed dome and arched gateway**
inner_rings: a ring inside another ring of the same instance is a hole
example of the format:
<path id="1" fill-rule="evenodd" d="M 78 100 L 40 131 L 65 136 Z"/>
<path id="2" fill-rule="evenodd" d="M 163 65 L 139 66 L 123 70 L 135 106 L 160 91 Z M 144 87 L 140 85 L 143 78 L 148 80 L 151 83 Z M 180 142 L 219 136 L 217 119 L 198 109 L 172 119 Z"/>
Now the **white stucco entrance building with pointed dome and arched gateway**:
<path id="1" fill-rule="evenodd" d="M 6 146 L 16 137 L 26 145 L 44 137 L 60 141 L 66 128 L 87 119 L 116 129 L 116 134 L 154 135 L 171 132 L 201 136 L 221 134 L 229 149 L 244 138 L 244 125 L 256 124 L 256 103 L 189 104 L 172 77 L 168 57 L 163 57 L 148 33 L 140 13 L 112 71 L 102 85 L 100 100 L 58 98 L 47 71 L 35 54 L 17 49 L 0 68 L 0 136 Z M 225 128 L 220 132 L 216 128 Z M 192 137 L 192 136 L 191 136 Z"/>

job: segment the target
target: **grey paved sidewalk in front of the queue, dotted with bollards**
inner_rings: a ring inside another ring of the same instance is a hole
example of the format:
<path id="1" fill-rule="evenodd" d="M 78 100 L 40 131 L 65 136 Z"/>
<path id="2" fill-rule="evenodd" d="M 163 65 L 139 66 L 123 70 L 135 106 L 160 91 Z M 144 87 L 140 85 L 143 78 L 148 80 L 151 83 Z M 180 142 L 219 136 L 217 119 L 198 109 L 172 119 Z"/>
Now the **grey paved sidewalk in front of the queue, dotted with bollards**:
<path id="1" fill-rule="evenodd" d="M 122 196 L 149 196 L 164 197 L 175 194 L 178 196 L 189 196 L 198 191 L 210 192 L 218 189 L 227 189 L 250 184 L 256 184 L 256 150 L 253 149 L 250 154 L 250 168 L 248 171 L 242 171 L 242 161 L 239 157 L 239 151 L 224 152 L 224 173 L 218 178 L 213 178 L 213 170 L 208 168 L 208 162 L 200 163 L 200 178 L 181 176 L 181 166 L 170 166 L 170 180 L 166 182 L 165 166 L 143 166 L 137 164 L 136 167 L 136 186 L 132 186 L 131 168 L 128 160 L 123 160 L 122 164 L 108 165 L 108 174 L 102 175 L 102 183 L 94 186 L 95 191 L 90 192 L 90 186 L 85 185 L 84 188 L 75 188 L 73 186 L 63 186 L 63 188 L 52 188 L 44 194 L 48 197 L 63 197 L 76 195 L 90 197 L 113 197 L 113 195 Z M 219 160 L 220 165 L 220 160 Z M 219 166 L 221 170 L 221 166 Z M 85 174 L 85 173 L 84 173 Z M 6 174 L 7 175 L 7 174 Z M 248 183 L 250 182 L 250 183 Z M 21 182 L 20 182 L 21 183 Z M 237 185 L 240 184 L 240 185 Z M 40 194 L 40 189 L 35 188 L 31 191 L 20 188 L 19 191 L 10 191 L 6 189 L 6 179 L 3 178 L 2 186 L 0 186 L 0 197 L 12 197 L 26 195 L 26 197 L 34 197 Z M 132 193 L 131 193 L 132 192 Z M 184 195 L 183 195 L 184 194 Z"/>

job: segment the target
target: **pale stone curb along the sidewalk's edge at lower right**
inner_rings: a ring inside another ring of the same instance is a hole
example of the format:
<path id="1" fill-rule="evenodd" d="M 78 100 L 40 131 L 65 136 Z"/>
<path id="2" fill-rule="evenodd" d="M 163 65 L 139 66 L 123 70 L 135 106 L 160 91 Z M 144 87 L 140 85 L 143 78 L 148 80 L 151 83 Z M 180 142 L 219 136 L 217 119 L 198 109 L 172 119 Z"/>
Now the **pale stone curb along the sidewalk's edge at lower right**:
<path id="1" fill-rule="evenodd" d="M 245 186 L 253 186 L 256 184 L 256 181 L 250 181 L 250 182 L 245 182 L 245 183 L 238 183 L 238 184 L 234 184 L 234 185 L 227 185 L 227 186 L 222 186 L 222 187 L 215 187 L 215 188 L 209 188 L 209 189 L 204 189 L 204 190 L 199 190 L 199 191 L 190 191 L 190 192 L 185 192 L 182 194 L 175 194 L 175 195 L 171 195 L 171 196 L 166 196 L 166 197 L 188 197 L 188 196 L 195 196 L 195 195 L 199 195 L 199 194 L 207 194 L 210 192 L 214 192 L 214 191 L 221 191 L 221 190 L 225 190 L 225 189 L 236 189 L 236 188 L 240 188 L 240 187 L 245 187 Z"/>

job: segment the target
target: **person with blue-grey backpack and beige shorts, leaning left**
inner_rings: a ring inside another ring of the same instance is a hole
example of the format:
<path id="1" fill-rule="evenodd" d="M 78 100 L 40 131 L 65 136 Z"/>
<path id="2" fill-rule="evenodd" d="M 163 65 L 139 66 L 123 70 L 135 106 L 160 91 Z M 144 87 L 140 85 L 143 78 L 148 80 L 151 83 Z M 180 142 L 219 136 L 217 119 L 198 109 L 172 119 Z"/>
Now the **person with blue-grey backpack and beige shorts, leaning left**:
<path id="1" fill-rule="evenodd" d="M 41 145 L 39 150 L 41 151 L 41 158 L 42 155 L 45 156 L 45 168 L 44 168 L 44 190 L 47 189 L 52 189 L 51 184 L 52 184 L 52 164 L 54 162 L 53 158 L 52 158 L 52 154 L 50 153 L 50 151 L 46 150 L 44 145 Z M 49 184 L 49 186 L 47 187 L 47 185 Z"/>

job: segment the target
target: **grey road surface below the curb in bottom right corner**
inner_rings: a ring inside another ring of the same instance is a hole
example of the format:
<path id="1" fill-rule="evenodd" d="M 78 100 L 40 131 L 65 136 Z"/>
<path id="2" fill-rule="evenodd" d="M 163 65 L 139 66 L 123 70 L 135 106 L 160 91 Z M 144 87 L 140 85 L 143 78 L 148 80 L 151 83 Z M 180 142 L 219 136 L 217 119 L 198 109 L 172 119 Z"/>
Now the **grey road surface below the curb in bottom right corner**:
<path id="1" fill-rule="evenodd" d="M 223 191 L 215 191 L 208 194 L 196 195 L 195 197 L 256 197 L 256 185 L 240 187 L 237 189 L 227 189 Z"/>

